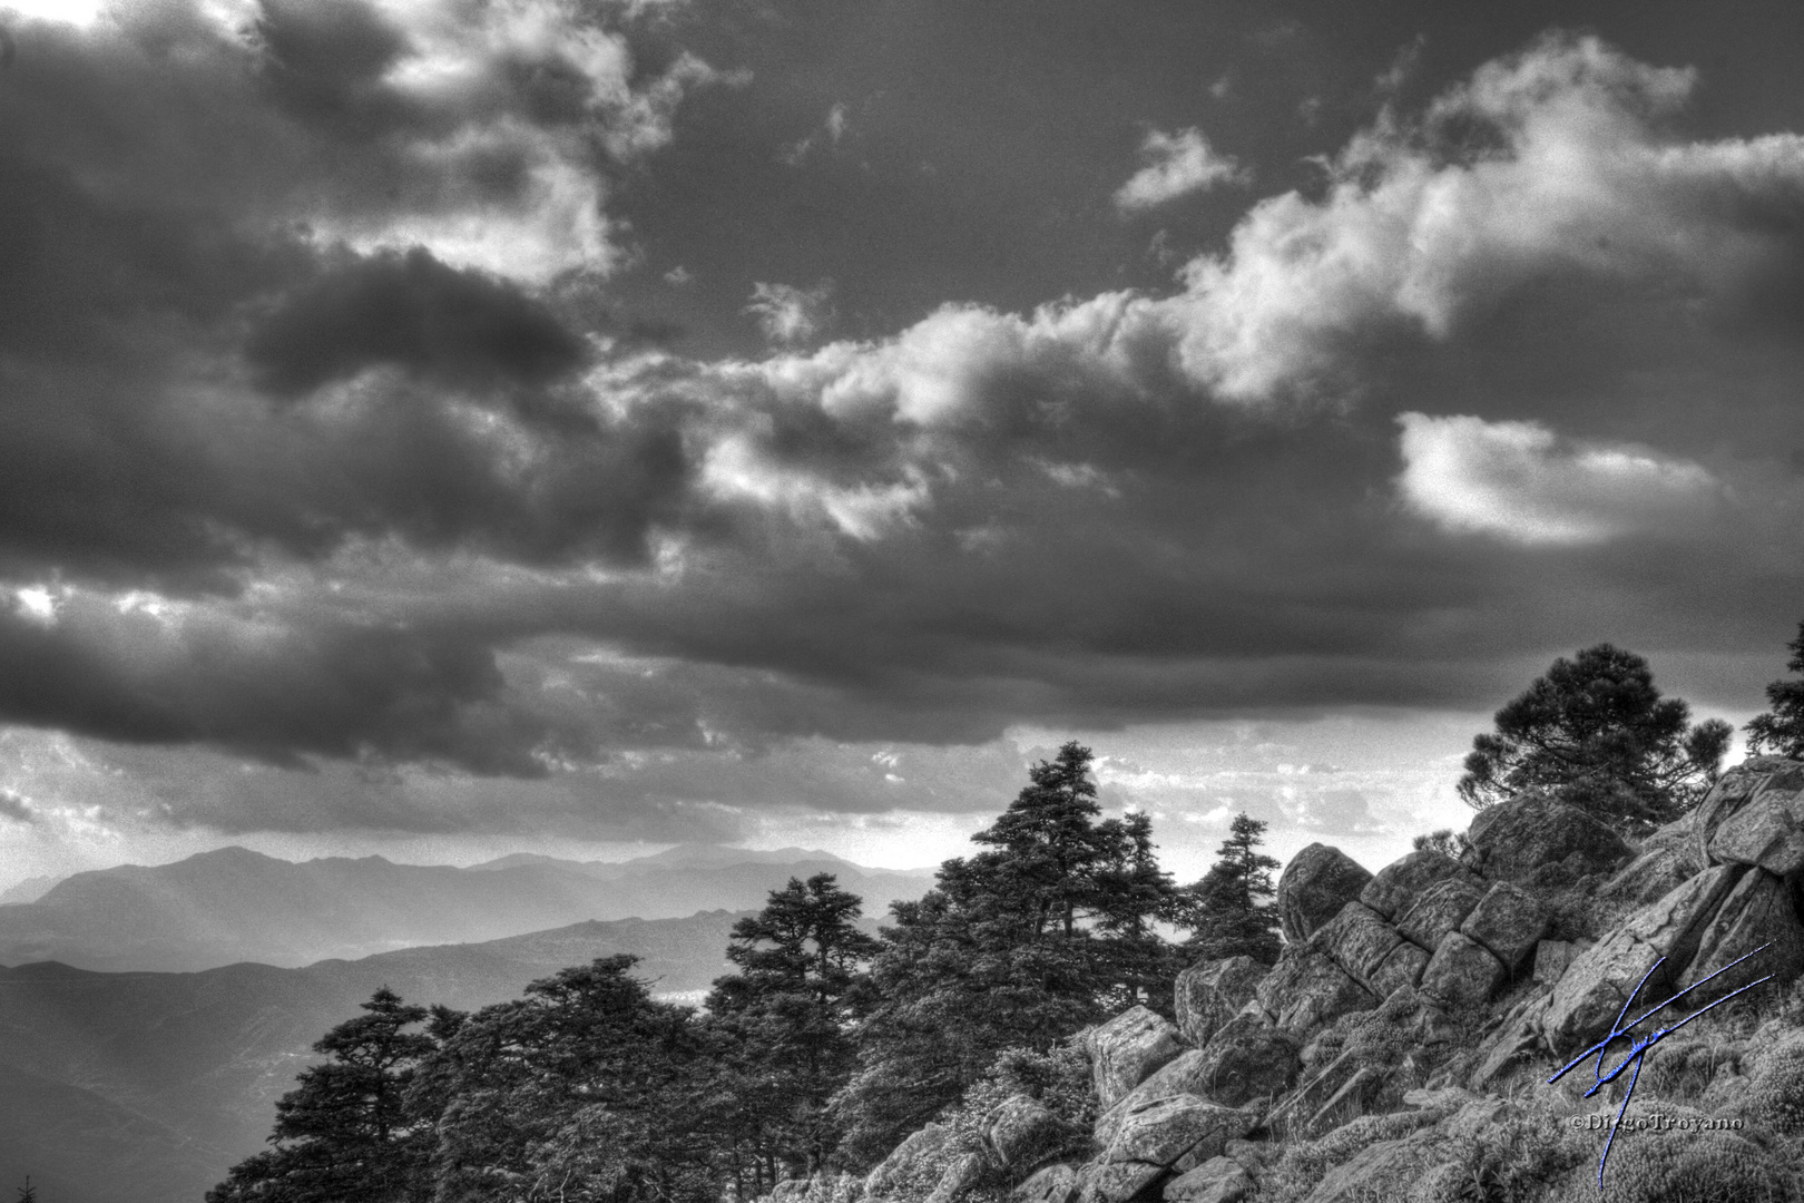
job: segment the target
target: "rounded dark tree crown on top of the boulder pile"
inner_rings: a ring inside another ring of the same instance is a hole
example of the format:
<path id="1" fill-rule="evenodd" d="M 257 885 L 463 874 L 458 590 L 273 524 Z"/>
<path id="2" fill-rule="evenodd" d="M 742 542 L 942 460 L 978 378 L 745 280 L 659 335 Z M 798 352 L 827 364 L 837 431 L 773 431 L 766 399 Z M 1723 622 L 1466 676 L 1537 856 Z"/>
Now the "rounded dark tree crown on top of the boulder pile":
<path id="1" fill-rule="evenodd" d="M 1690 727 L 1690 707 L 1661 698 L 1642 657 L 1598 644 L 1553 662 L 1472 739 L 1459 797 L 1476 808 L 1542 788 L 1627 831 L 1685 813 L 1703 797 L 1734 730 Z"/>

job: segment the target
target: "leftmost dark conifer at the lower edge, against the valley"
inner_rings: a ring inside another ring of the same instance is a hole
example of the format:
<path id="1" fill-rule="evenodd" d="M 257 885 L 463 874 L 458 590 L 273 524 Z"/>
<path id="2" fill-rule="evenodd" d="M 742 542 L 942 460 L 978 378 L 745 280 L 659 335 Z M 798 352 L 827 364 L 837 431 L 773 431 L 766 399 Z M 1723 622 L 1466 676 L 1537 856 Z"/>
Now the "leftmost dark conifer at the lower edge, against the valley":
<path id="1" fill-rule="evenodd" d="M 330 1057 L 276 1102 L 274 1149 L 235 1165 L 207 1203 L 400 1203 L 422 1198 L 426 1133 L 404 1100 L 413 1068 L 437 1046 L 408 1032 L 428 1017 L 382 987 L 364 1014 L 314 1044 Z"/>

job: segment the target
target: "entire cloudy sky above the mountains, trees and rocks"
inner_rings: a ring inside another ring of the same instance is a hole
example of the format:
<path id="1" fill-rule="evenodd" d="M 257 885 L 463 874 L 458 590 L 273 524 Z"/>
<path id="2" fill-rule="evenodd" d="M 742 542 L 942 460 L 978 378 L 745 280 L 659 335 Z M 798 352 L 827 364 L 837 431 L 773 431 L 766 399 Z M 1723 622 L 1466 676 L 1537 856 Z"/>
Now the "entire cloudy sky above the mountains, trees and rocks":
<path id="1" fill-rule="evenodd" d="M 1555 657 L 1739 725 L 1804 619 L 1797 4 L 0 29 L 0 878 L 925 866 L 1066 739 L 1378 868 Z"/>

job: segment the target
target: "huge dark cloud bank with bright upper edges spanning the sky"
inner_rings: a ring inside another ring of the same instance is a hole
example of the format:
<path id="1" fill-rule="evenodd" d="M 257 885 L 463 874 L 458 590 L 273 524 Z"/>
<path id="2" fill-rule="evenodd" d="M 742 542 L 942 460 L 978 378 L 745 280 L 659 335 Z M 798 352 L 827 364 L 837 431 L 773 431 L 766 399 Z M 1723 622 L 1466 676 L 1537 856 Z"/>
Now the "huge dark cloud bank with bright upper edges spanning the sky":
<path id="1" fill-rule="evenodd" d="M 27 115 L 90 85 L 179 170 L 0 117 L 0 716 L 824 804 L 797 741 L 1488 709 L 1550 651 L 1795 620 L 1804 141 L 1683 135 L 1689 72 L 1550 38 L 1165 290 L 698 361 L 584 298 L 601 164 L 709 70 L 527 9 L 32 34 Z"/>

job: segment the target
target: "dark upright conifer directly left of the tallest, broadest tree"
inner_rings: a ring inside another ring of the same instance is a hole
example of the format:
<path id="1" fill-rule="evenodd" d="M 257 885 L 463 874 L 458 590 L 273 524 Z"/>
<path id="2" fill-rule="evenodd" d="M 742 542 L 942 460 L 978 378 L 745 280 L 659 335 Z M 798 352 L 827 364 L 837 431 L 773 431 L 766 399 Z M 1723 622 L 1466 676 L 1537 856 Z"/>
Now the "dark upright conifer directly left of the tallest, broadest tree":
<path id="1" fill-rule="evenodd" d="M 732 927 L 707 997 L 723 1080 L 714 1122 L 725 1134 L 740 1194 L 763 1194 L 779 1169 L 812 1172 L 839 1142 L 828 1098 L 857 1064 L 848 1024 L 879 943 L 859 931 L 861 900 L 832 873 L 790 878 L 763 911 Z"/>

